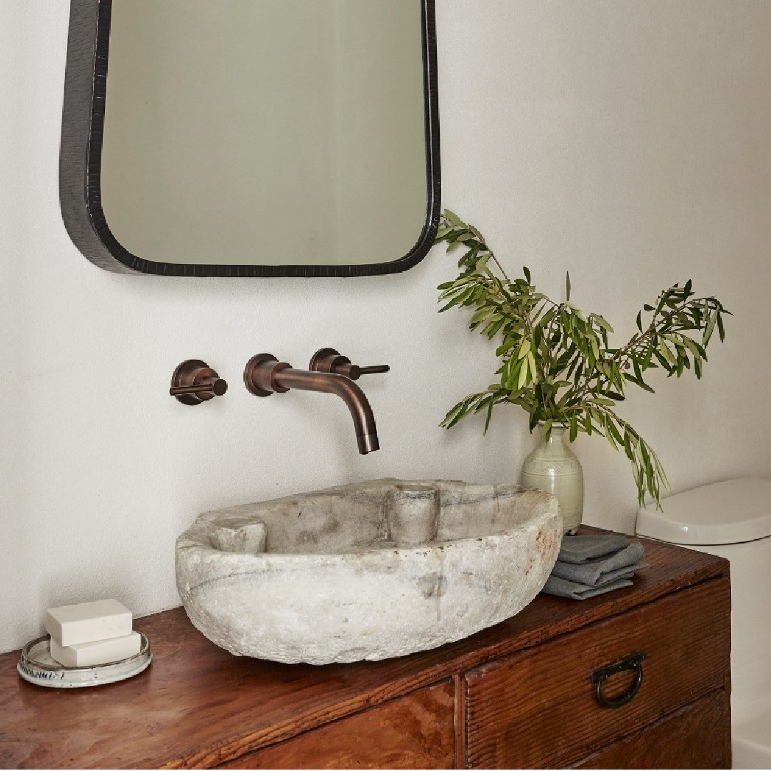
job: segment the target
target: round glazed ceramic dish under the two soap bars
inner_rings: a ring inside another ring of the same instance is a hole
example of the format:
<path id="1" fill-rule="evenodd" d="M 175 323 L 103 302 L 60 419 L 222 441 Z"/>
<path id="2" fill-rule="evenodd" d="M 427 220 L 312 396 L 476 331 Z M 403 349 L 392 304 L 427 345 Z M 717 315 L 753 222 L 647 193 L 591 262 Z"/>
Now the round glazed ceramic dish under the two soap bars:
<path id="1" fill-rule="evenodd" d="M 28 642 L 22 648 L 22 658 L 17 669 L 27 682 L 46 688 L 86 688 L 89 685 L 106 685 L 139 675 L 153 660 L 150 642 L 140 632 L 140 652 L 117 662 L 91 667 L 66 667 L 51 658 L 49 636 Z"/>

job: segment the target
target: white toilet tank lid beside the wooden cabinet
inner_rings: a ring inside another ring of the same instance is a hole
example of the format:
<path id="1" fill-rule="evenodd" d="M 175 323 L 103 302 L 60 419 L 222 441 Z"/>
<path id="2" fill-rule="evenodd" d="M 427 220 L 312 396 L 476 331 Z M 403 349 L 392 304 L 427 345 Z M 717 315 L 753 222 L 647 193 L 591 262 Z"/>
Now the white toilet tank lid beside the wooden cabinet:
<path id="1" fill-rule="evenodd" d="M 695 487 L 642 507 L 637 534 L 671 544 L 739 544 L 771 535 L 771 482 L 753 476 Z"/>

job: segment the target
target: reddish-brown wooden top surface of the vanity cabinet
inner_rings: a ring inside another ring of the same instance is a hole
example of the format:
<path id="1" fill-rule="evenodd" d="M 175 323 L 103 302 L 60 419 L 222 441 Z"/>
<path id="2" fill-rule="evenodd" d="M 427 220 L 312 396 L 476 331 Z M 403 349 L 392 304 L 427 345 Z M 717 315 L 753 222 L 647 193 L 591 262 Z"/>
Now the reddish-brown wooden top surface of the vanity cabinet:
<path id="1" fill-rule="evenodd" d="M 40 688 L 19 678 L 18 651 L 5 654 L 0 767 L 217 766 L 729 571 L 718 557 L 655 542 L 645 543 L 645 557 L 649 567 L 632 588 L 581 602 L 541 595 L 478 635 L 382 662 L 314 667 L 238 658 L 200 635 L 181 608 L 136 621 L 153 664 L 114 685 Z"/>

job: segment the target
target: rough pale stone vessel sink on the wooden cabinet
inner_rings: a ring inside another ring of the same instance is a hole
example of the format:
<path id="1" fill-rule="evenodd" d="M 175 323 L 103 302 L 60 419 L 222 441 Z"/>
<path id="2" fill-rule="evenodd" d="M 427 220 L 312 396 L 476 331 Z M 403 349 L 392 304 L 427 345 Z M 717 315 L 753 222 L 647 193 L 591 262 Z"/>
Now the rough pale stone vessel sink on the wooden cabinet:
<path id="1" fill-rule="evenodd" d="M 519 612 L 561 537 L 548 493 L 374 480 L 201 514 L 177 539 L 177 588 L 196 628 L 236 655 L 390 658 Z"/>

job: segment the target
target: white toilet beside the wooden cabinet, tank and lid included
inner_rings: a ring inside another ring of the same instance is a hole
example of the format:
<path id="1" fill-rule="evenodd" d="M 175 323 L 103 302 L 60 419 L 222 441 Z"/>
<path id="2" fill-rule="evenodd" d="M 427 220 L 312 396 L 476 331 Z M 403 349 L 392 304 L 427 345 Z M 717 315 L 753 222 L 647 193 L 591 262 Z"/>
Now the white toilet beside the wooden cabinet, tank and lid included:
<path id="1" fill-rule="evenodd" d="M 733 767 L 771 768 L 771 482 L 755 477 L 641 508 L 637 534 L 731 563 Z"/>

